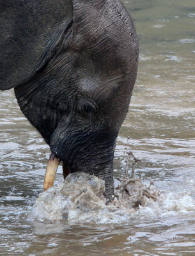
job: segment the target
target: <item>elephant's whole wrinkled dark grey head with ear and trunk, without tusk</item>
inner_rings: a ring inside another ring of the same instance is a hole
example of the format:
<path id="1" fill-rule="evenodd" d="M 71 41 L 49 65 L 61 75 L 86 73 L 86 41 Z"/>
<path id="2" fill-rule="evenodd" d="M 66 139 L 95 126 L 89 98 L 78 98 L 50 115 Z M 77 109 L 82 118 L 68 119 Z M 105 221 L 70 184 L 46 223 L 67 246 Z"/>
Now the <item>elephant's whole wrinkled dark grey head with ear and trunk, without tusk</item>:
<path id="1" fill-rule="evenodd" d="M 0 0 L 0 89 L 70 172 L 113 195 L 116 137 L 136 81 L 138 44 L 119 0 Z"/>

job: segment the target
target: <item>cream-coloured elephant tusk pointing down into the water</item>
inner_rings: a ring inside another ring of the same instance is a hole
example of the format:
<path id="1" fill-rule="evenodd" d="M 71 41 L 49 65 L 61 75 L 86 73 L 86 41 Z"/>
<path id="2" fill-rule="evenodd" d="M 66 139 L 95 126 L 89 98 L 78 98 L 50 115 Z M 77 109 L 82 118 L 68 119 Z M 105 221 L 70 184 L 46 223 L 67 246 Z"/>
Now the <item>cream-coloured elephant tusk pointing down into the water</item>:
<path id="1" fill-rule="evenodd" d="M 49 163 L 47 164 L 47 169 L 45 172 L 43 190 L 47 190 L 53 186 L 59 163 L 60 160 L 58 159 L 58 157 L 56 157 L 56 155 L 52 153 L 49 158 Z"/>

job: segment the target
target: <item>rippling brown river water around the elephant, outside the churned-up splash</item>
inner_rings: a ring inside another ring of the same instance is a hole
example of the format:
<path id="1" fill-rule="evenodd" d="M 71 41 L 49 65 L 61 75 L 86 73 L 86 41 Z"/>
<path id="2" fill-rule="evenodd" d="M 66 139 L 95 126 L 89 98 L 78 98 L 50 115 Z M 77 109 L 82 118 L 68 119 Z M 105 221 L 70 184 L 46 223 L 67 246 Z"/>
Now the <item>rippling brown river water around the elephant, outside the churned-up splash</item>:
<path id="1" fill-rule="evenodd" d="M 49 147 L 0 92 L 1 255 L 195 255 L 195 3 L 132 0 L 139 73 L 116 145 L 114 175 L 125 172 L 125 147 L 142 159 L 136 177 L 164 191 L 164 205 L 102 223 L 27 220 L 42 192 Z M 130 136 L 128 145 L 127 136 Z M 56 184 L 62 182 L 59 168 Z"/>

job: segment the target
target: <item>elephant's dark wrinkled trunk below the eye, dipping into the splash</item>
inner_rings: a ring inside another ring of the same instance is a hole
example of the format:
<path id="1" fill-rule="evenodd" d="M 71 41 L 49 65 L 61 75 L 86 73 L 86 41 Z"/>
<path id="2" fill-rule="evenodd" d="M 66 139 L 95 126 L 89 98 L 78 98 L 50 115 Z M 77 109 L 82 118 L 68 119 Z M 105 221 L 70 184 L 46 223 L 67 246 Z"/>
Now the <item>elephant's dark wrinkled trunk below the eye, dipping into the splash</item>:
<path id="1" fill-rule="evenodd" d="M 111 202 L 114 195 L 114 148 L 118 131 L 97 131 L 82 124 L 70 130 L 70 124 L 67 126 L 66 132 L 64 127 L 61 127 L 60 133 L 59 129 L 56 129 L 52 134 L 51 151 L 61 159 L 68 172 L 86 172 L 103 179 L 104 196 Z M 66 172 L 63 173 L 65 175 Z"/>

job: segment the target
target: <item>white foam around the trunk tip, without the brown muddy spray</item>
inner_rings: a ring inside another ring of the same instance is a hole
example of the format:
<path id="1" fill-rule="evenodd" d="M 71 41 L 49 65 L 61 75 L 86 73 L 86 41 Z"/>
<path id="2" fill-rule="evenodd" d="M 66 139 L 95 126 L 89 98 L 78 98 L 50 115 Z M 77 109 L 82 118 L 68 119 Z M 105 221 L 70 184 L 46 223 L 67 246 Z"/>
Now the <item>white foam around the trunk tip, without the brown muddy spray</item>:
<path id="1" fill-rule="evenodd" d="M 81 174 L 81 173 L 80 173 Z M 80 175 L 79 174 L 79 175 Z M 70 176 L 70 177 L 69 177 Z M 187 193 L 169 192 L 156 200 L 144 196 L 144 206 L 136 209 L 125 205 L 105 205 L 104 182 L 95 176 L 86 179 L 86 173 L 78 180 L 69 175 L 64 183 L 49 188 L 36 199 L 27 220 L 62 221 L 75 223 L 128 223 L 132 218 L 148 219 L 173 216 L 195 211 L 194 199 Z M 79 176 L 80 177 L 80 176 Z M 153 187 L 153 191 L 155 188 Z M 115 203 L 117 199 L 115 198 Z"/>

